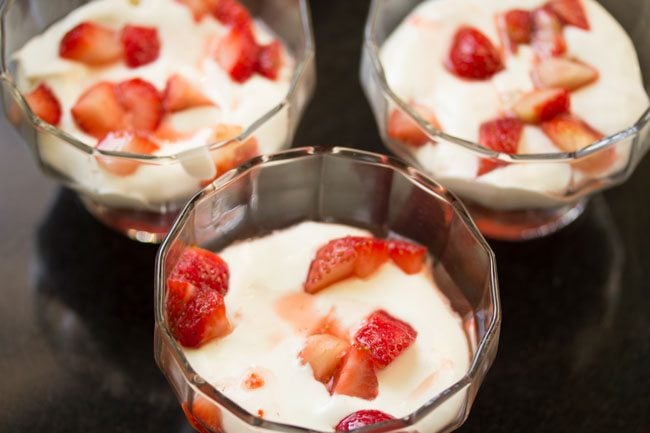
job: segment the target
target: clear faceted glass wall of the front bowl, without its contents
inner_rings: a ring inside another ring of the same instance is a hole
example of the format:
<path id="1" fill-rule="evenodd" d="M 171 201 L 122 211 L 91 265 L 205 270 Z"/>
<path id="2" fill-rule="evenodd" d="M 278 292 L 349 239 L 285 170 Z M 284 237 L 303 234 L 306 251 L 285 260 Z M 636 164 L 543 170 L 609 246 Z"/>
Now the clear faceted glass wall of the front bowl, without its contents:
<path id="1" fill-rule="evenodd" d="M 463 320 L 470 368 L 412 414 L 364 431 L 433 433 L 458 427 L 497 350 L 501 313 L 490 247 L 458 199 L 415 169 L 383 155 L 312 147 L 257 157 L 229 171 L 191 199 L 159 249 L 155 357 L 188 420 L 213 433 L 310 431 L 248 413 L 207 383 L 172 337 L 165 314 L 165 282 L 185 246 L 220 250 L 306 220 L 358 226 L 380 237 L 396 233 L 428 248 L 436 283 Z M 208 405 L 218 416 L 202 422 L 196 405 L 201 413 Z"/>

